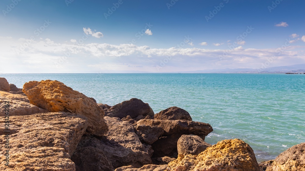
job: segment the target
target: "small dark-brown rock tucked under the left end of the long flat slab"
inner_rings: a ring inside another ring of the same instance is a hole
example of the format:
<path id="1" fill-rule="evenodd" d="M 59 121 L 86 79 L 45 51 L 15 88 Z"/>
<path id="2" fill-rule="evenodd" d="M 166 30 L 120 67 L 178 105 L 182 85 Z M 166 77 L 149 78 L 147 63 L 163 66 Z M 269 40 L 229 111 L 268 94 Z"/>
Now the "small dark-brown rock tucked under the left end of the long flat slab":
<path id="1" fill-rule="evenodd" d="M 164 130 L 157 126 L 146 126 L 146 125 L 138 125 L 135 126 L 136 134 L 139 136 L 142 142 L 146 142 L 147 144 L 152 144 L 156 142 L 160 135 L 163 134 Z"/>

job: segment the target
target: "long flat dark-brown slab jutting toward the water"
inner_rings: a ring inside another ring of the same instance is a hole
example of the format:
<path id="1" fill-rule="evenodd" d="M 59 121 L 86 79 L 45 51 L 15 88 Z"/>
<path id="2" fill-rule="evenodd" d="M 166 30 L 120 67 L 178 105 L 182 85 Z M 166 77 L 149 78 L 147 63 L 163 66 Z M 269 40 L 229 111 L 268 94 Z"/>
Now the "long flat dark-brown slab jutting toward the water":
<path id="1" fill-rule="evenodd" d="M 213 131 L 210 124 L 186 120 L 155 120 L 141 119 L 137 125 L 149 125 L 150 127 L 157 126 L 164 130 L 163 135 L 171 134 L 194 134 L 198 136 L 206 136 Z"/>

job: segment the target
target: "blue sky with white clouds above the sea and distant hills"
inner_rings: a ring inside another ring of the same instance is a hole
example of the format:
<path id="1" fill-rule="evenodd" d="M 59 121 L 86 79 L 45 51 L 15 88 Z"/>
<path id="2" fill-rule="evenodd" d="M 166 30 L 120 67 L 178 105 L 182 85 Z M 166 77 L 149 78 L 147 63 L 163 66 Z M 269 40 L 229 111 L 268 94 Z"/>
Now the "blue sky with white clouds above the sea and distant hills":
<path id="1" fill-rule="evenodd" d="M 303 0 L 1 0 L 0 73 L 301 64 L 304 6 Z"/>

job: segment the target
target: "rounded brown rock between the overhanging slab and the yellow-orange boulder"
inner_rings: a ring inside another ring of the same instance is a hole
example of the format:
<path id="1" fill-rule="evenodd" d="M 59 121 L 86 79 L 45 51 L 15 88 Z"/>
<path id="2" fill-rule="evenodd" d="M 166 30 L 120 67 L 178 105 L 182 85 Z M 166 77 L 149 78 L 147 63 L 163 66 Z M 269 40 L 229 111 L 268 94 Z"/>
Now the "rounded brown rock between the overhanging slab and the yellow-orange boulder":
<path id="1" fill-rule="evenodd" d="M 184 156 L 188 154 L 198 155 L 206 148 L 210 147 L 209 143 L 206 143 L 197 135 L 182 135 L 177 142 L 178 154 Z"/>

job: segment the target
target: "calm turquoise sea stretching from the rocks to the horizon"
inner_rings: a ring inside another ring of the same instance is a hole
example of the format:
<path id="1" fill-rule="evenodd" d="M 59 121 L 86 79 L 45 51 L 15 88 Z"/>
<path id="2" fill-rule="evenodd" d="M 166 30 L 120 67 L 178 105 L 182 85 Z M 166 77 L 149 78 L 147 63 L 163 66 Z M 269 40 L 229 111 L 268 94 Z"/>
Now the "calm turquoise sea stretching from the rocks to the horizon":
<path id="1" fill-rule="evenodd" d="M 257 160 L 274 159 L 305 142 L 305 74 L 0 74 L 21 88 L 30 80 L 59 80 L 98 103 L 133 97 L 155 113 L 171 106 L 212 125 L 206 142 L 239 138 Z"/>

